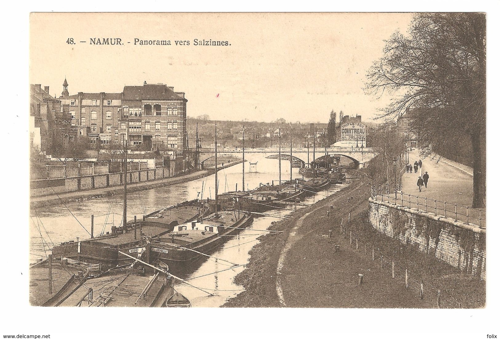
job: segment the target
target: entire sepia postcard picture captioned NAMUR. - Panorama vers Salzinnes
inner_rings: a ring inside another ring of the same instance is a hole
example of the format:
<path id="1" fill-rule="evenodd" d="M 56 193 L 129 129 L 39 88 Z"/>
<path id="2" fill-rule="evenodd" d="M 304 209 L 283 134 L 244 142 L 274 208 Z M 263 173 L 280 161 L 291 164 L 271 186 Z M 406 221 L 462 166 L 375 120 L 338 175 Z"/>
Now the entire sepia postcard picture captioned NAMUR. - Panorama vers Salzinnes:
<path id="1" fill-rule="evenodd" d="M 22 307 L 490 305 L 486 12 L 27 15 Z"/>

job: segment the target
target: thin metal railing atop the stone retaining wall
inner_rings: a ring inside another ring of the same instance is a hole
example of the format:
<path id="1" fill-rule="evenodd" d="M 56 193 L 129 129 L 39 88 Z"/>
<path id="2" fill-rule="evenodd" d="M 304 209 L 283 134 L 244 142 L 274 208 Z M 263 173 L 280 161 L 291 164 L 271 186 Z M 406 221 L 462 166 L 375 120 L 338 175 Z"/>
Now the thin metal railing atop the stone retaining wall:
<path id="1" fill-rule="evenodd" d="M 466 224 L 476 224 L 486 227 L 486 211 L 481 208 L 473 208 L 459 205 L 457 203 L 435 200 L 418 195 L 394 192 L 388 188 L 388 184 L 371 186 L 371 197 L 375 200 L 391 202 L 401 206 L 416 208 L 425 212 L 454 218 Z"/>

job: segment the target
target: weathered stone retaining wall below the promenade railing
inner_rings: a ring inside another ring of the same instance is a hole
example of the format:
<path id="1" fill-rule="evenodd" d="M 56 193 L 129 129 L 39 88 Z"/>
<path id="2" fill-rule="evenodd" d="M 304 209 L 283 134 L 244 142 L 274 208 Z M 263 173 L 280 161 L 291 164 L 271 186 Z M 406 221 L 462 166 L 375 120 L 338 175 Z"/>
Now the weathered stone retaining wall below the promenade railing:
<path id="1" fill-rule="evenodd" d="M 369 222 L 373 228 L 485 279 L 485 228 L 371 197 L 368 201 Z"/>

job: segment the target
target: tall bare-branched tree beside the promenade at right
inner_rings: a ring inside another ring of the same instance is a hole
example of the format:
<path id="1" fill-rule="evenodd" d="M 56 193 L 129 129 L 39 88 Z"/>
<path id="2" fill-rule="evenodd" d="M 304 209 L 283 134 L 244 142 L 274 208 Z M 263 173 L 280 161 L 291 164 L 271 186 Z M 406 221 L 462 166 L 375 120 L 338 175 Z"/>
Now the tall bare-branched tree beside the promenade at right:
<path id="1" fill-rule="evenodd" d="M 427 154 L 444 139 L 467 135 L 473 150 L 473 207 L 485 192 L 485 15 L 420 13 L 409 36 L 395 32 L 367 74 L 368 92 L 391 95 L 380 117 L 415 107 L 410 126 Z"/>

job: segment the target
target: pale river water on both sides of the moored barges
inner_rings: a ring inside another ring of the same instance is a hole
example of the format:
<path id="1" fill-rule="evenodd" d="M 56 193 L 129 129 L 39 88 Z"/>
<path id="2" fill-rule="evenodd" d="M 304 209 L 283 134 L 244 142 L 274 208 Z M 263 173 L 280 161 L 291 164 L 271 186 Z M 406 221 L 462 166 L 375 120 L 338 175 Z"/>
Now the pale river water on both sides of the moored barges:
<path id="1" fill-rule="evenodd" d="M 255 162 L 252 159 L 252 162 Z M 278 180 L 277 160 L 258 159 L 257 172 L 248 172 L 249 162 L 245 163 L 245 186 L 252 189 L 259 183 L 271 183 Z M 225 192 L 234 190 L 236 183 L 241 188 L 242 164 L 237 164 L 218 171 L 218 190 Z M 292 168 L 293 178 L 301 177 L 298 168 Z M 290 178 L 289 161 L 281 161 L 281 179 Z M 194 199 L 201 196 L 214 197 L 215 187 L 214 174 L 201 179 L 179 183 L 171 186 L 158 187 L 148 190 L 131 192 L 127 195 L 127 219 L 142 218 L 143 214 L 152 212 L 159 208 L 174 205 L 184 200 Z M 321 191 L 319 194 L 307 197 L 303 203 L 312 204 L 327 195 L 334 194 L 342 185 L 334 185 L 329 191 Z M 198 195 L 199 194 L 199 195 Z M 67 207 L 66 207 L 67 206 Z M 111 230 L 111 226 L 121 224 L 123 213 L 123 201 L 121 195 L 112 197 L 101 197 L 85 201 L 66 203 L 64 205 L 47 206 L 42 209 L 32 209 L 30 214 L 30 260 L 46 257 L 50 253 L 49 248 L 61 241 L 76 240 L 77 237 L 85 239 L 89 237 L 90 215 L 94 214 L 94 235 Z M 287 214 L 289 210 L 272 210 L 267 213 Z M 225 242 L 211 255 L 221 259 L 227 259 L 237 264 L 248 263 L 248 251 L 258 243 L 256 238 L 265 233 L 272 221 L 279 220 L 278 217 L 260 216 L 255 217 L 253 223 L 238 236 L 234 236 Z M 192 265 L 182 274 L 184 278 L 196 286 L 206 288 L 215 294 L 210 296 L 191 286 L 176 285 L 176 289 L 191 300 L 193 306 L 216 307 L 220 306 L 230 297 L 235 296 L 242 290 L 242 286 L 233 283 L 234 276 L 244 269 L 243 266 L 229 268 L 230 264 L 223 260 L 213 258 L 202 259 Z M 223 271 L 221 271 L 223 270 Z M 220 271 L 218 273 L 213 273 Z M 206 275 L 208 274 L 208 275 Z M 203 277 L 199 277 L 203 275 Z"/>

